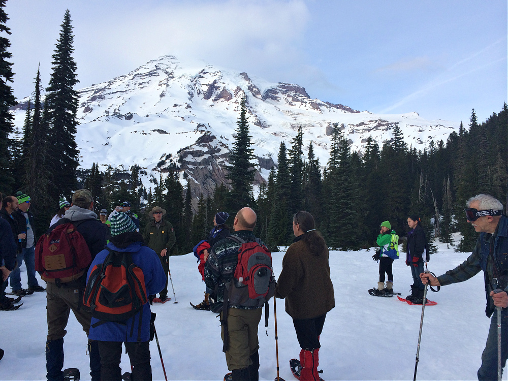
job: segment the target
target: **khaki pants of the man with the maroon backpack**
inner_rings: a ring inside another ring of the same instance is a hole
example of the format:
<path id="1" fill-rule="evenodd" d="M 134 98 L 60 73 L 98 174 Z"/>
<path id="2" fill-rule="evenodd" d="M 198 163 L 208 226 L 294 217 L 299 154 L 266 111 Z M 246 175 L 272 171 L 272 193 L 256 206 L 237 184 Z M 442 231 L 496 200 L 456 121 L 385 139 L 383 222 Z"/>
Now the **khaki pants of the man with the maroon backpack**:
<path id="1" fill-rule="evenodd" d="M 57 340 L 65 336 L 67 333 L 65 328 L 71 310 L 88 336 L 92 316 L 87 308 L 83 306 L 82 301 L 80 301 L 80 298 L 83 297 L 80 292 L 82 288 L 83 281 L 81 279 L 63 283 L 60 287 L 57 287 L 55 283 L 47 283 L 46 315 L 48 317 L 48 340 Z M 78 305 L 80 305 L 79 310 Z"/>

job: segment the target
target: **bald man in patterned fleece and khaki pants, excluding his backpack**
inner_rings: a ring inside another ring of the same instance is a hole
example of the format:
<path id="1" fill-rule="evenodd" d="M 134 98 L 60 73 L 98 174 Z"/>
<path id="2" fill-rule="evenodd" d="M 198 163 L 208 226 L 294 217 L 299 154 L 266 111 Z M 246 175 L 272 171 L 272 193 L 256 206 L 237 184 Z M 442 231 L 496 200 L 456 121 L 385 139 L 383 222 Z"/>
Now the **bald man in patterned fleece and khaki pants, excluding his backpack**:
<path id="1" fill-rule="evenodd" d="M 252 233 L 256 226 L 257 215 L 252 209 L 240 209 L 233 223 L 233 235 L 243 240 L 255 240 Z M 261 244 L 263 244 L 261 242 Z M 224 303 L 225 284 L 231 282 L 236 265 L 238 264 L 238 248 L 240 243 L 231 238 L 225 238 L 213 245 L 205 265 L 205 283 L 216 294 L 210 295 L 210 308 L 214 312 L 221 311 Z M 261 320 L 262 307 L 245 307 L 228 304 L 227 313 L 228 344 L 226 350 L 226 363 L 231 374 L 226 378 L 232 380 L 258 380 L 259 379 L 259 341 L 258 325 Z M 224 340 L 224 325 L 220 336 Z"/>

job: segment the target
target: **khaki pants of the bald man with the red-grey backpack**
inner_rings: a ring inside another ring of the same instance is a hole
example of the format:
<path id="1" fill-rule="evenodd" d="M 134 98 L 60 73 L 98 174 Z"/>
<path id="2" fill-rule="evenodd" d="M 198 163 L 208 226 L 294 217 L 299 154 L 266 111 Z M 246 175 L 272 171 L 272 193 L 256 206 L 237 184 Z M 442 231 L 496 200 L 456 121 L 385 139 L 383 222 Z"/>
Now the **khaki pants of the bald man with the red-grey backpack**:
<path id="1" fill-rule="evenodd" d="M 259 350 L 258 325 L 262 312 L 263 308 L 228 308 L 229 346 L 226 363 L 229 370 L 245 369 L 252 364 L 250 356 Z M 224 341 L 224 327 L 221 328 L 220 337 Z"/>

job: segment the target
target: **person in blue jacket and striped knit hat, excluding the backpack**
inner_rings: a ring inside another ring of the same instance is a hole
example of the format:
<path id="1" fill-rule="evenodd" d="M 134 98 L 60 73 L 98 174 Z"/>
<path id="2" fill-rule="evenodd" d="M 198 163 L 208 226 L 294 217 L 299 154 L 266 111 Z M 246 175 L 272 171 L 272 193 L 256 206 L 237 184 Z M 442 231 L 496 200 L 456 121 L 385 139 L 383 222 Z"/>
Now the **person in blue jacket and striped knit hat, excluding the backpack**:
<path id="1" fill-rule="evenodd" d="M 161 261 L 155 251 L 143 243 L 143 236 L 136 232 L 136 225 L 127 214 L 117 212 L 111 216 L 111 239 L 107 247 L 113 251 L 131 253 L 134 264 L 143 270 L 147 296 L 155 295 L 164 289 L 166 275 Z M 103 263 L 109 253 L 107 249 L 98 253 L 88 270 L 87 281 L 93 267 Z M 142 316 L 141 327 L 140 316 Z M 125 321 L 110 322 L 92 317 L 88 337 L 98 340 L 99 343 L 101 379 L 121 378 L 122 342 L 133 366 L 132 379 L 152 379 L 149 349 L 150 317 L 148 303 L 143 305 L 139 313 Z"/>

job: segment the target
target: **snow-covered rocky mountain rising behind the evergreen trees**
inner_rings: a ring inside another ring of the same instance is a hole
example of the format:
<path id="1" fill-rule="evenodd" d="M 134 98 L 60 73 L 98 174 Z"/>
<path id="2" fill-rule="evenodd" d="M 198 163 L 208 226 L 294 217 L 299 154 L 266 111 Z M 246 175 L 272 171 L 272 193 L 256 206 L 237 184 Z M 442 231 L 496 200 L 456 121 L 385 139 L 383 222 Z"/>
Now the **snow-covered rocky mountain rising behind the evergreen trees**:
<path id="1" fill-rule="evenodd" d="M 247 73 L 210 65 L 187 66 L 174 56 L 147 62 L 129 74 L 79 91 L 76 141 L 80 164 L 129 168 L 138 164 L 158 177 L 173 162 L 208 194 L 224 181 L 234 141 L 240 100 L 246 97 L 250 135 L 260 174 L 267 178 L 281 141 L 287 146 L 302 126 L 304 144 L 314 144 L 322 165 L 328 161 L 333 123 L 339 123 L 352 150 L 362 151 L 368 136 L 381 145 L 398 124 L 408 145 L 423 149 L 431 140 L 446 141 L 458 124 L 425 120 L 418 113 L 376 115 L 311 99 L 301 86 L 268 83 Z M 24 99 L 14 109 L 20 128 Z M 197 187 L 198 188 L 198 187 Z"/>

